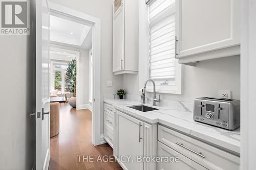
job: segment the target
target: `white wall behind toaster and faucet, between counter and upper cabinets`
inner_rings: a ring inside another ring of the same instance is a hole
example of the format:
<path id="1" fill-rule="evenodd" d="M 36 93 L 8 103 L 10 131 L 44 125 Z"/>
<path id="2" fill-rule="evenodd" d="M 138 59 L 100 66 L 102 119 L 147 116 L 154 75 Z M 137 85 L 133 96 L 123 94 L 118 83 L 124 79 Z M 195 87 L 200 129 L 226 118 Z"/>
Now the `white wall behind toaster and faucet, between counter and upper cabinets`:
<path id="1" fill-rule="evenodd" d="M 161 99 L 193 102 L 202 96 L 218 97 L 218 90 L 231 90 L 232 99 L 240 99 L 239 56 L 200 61 L 196 67 L 183 65 L 182 76 L 183 94 L 159 93 Z M 123 86 L 129 94 L 141 94 L 138 75 L 125 75 Z"/>

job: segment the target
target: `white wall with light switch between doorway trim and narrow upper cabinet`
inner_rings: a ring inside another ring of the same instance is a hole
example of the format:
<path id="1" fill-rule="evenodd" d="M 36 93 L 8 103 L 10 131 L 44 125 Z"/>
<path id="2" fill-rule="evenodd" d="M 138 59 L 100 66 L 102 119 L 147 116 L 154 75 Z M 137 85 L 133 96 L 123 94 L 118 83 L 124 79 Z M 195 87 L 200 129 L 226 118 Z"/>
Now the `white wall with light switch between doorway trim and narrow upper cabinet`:
<path id="1" fill-rule="evenodd" d="M 123 76 L 112 72 L 112 5 L 113 0 L 50 0 L 68 8 L 101 19 L 101 101 L 103 94 L 112 94 L 123 87 Z M 113 81 L 113 87 L 106 87 L 106 81 Z M 103 133 L 103 102 L 101 102 L 101 134 Z"/>

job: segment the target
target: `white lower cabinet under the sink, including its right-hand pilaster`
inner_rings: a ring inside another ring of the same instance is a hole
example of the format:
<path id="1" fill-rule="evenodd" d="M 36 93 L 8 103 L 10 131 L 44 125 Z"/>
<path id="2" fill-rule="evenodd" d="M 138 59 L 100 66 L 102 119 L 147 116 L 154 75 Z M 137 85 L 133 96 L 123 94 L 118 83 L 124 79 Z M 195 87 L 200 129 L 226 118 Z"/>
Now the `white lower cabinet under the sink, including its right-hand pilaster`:
<path id="1" fill-rule="evenodd" d="M 156 155 L 157 138 L 152 135 L 156 129 L 156 125 L 116 112 L 114 155 L 123 169 L 156 169 L 156 163 L 141 161 L 145 155 Z"/>

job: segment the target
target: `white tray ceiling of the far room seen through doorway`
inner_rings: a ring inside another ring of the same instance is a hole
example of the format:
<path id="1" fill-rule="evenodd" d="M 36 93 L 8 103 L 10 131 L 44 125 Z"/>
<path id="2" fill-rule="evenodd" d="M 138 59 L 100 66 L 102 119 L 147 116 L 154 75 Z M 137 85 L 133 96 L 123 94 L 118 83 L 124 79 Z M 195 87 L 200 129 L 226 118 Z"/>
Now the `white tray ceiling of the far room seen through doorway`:
<path id="1" fill-rule="evenodd" d="M 50 40 L 53 43 L 91 48 L 91 27 L 51 15 Z"/>

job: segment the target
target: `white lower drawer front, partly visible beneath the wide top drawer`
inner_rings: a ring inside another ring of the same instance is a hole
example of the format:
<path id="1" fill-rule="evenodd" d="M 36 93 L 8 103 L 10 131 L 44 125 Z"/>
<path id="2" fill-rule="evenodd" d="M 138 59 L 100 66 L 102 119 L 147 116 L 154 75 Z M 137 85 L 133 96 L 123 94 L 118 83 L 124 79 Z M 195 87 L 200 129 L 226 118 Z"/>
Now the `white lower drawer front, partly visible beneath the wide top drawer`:
<path id="1" fill-rule="evenodd" d="M 191 159 L 188 159 L 187 157 L 183 156 L 179 152 L 173 150 L 172 148 L 167 147 L 165 144 L 158 141 L 158 147 L 157 147 L 157 156 L 162 157 L 178 157 L 179 161 L 170 163 L 170 162 L 158 162 L 157 163 L 157 169 L 159 170 L 206 170 L 205 167 L 201 166 L 200 164 L 194 162 Z"/>

